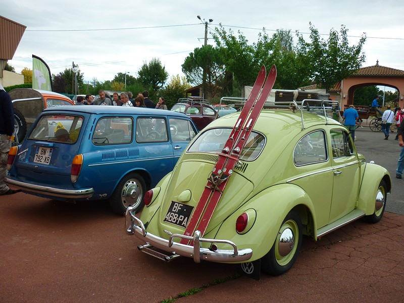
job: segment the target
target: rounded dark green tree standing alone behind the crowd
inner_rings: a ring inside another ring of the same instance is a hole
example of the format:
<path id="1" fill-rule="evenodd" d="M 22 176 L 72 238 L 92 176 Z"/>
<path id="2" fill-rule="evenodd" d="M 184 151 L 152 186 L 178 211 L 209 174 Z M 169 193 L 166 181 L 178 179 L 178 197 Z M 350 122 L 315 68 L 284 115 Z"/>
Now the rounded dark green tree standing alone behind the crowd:
<path id="1" fill-rule="evenodd" d="M 151 59 L 149 63 L 144 62 L 138 75 L 140 83 L 154 92 L 162 88 L 168 78 L 166 68 L 157 58 Z"/>

